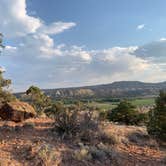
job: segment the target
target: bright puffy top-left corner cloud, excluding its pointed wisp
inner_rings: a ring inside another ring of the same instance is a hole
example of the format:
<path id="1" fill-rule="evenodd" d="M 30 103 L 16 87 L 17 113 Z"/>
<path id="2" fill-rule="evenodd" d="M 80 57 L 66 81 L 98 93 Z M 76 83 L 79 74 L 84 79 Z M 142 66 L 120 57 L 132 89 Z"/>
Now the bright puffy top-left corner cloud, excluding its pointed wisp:
<path id="1" fill-rule="evenodd" d="M 0 0 L 0 29 L 5 36 L 17 37 L 34 33 L 41 20 L 27 15 L 25 0 Z"/>

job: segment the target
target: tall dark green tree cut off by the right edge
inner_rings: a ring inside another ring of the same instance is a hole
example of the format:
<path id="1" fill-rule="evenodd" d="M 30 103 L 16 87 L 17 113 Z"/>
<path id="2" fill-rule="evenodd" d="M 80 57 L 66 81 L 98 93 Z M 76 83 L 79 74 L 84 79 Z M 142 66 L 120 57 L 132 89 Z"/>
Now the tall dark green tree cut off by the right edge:
<path id="1" fill-rule="evenodd" d="M 156 106 L 149 112 L 148 132 L 166 141 L 166 91 L 160 91 Z"/>

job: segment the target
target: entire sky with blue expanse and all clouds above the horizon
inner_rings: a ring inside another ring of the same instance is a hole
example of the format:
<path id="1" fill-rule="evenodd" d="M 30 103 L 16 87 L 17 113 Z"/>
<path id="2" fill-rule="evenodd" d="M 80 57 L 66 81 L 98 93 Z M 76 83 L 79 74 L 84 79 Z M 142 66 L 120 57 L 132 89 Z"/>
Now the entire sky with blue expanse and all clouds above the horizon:
<path id="1" fill-rule="evenodd" d="M 0 0 L 15 92 L 166 81 L 165 0 Z"/>

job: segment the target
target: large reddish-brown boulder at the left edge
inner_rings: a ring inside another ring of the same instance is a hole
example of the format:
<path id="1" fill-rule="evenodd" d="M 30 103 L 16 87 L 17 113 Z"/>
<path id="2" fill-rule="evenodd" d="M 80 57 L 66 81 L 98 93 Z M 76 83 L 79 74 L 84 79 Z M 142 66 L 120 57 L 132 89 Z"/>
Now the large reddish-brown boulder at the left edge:
<path id="1" fill-rule="evenodd" d="M 21 101 L 8 102 L 0 108 L 0 117 L 3 120 L 22 122 L 36 115 L 34 108 L 28 103 Z"/>

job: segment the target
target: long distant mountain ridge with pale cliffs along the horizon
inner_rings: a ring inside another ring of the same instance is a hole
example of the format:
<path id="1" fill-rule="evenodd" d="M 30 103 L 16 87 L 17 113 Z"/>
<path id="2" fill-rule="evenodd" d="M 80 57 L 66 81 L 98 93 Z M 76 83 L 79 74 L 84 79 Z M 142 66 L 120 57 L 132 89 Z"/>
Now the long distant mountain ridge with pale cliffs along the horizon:
<path id="1" fill-rule="evenodd" d="M 123 98 L 156 96 L 160 90 L 166 90 L 166 81 L 144 83 L 139 81 L 120 81 L 94 86 L 44 89 L 50 97 L 57 98 Z"/>

